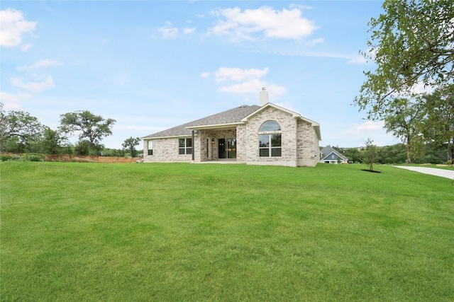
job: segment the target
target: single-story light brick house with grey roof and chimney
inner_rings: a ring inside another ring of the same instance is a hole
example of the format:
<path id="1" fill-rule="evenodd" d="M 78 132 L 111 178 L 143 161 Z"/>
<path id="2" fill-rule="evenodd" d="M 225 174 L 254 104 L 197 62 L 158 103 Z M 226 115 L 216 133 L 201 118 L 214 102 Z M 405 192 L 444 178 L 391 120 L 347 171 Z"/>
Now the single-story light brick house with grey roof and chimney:
<path id="1" fill-rule="evenodd" d="M 320 160 L 320 125 L 268 103 L 243 105 L 143 139 L 143 162 L 236 161 L 253 165 L 314 166 Z"/>

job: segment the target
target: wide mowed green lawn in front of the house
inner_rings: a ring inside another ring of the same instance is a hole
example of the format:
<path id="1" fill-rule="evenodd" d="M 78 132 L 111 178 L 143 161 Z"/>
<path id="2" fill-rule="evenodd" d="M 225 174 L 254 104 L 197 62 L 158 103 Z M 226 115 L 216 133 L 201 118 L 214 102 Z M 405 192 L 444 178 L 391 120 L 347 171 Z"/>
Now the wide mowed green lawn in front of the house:
<path id="1" fill-rule="evenodd" d="M 453 301 L 452 180 L 0 163 L 1 301 Z"/>

